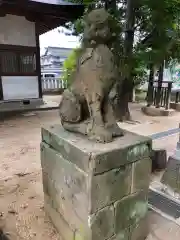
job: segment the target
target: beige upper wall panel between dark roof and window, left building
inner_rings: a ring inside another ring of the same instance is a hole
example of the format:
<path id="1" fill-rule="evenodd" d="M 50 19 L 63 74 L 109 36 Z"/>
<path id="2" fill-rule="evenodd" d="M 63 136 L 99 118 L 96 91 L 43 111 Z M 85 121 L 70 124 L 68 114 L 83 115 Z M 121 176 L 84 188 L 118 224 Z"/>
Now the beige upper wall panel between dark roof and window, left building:
<path id="1" fill-rule="evenodd" d="M 0 17 L 0 44 L 36 46 L 35 23 L 21 16 Z"/>

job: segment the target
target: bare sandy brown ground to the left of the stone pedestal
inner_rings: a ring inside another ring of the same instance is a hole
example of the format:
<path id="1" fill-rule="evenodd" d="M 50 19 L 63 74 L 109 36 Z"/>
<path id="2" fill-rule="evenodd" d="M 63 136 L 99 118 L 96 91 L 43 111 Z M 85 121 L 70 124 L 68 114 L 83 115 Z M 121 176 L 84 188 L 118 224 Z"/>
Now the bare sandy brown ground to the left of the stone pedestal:
<path id="1" fill-rule="evenodd" d="M 40 166 L 40 128 L 58 121 L 47 111 L 0 122 L 0 229 L 11 240 L 60 239 L 44 213 Z"/>

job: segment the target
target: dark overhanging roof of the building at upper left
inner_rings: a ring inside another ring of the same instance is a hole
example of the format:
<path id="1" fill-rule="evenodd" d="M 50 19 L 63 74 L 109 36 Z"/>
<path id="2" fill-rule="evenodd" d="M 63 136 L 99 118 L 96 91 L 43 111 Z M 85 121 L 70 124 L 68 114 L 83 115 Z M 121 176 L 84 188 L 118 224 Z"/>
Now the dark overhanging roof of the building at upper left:
<path id="1" fill-rule="evenodd" d="M 0 0 L 5 14 L 23 14 L 39 23 L 39 35 L 65 23 L 74 21 L 84 13 L 83 4 L 72 4 L 67 0 Z"/>

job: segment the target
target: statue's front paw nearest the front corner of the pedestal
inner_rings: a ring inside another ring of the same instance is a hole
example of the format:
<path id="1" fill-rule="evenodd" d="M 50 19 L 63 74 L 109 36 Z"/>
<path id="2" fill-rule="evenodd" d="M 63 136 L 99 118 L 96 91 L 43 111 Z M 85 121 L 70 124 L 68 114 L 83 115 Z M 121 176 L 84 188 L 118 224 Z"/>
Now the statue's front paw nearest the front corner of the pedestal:
<path id="1" fill-rule="evenodd" d="M 105 127 L 95 126 L 88 134 L 89 139 L 100 142 L 100 143 L 108 143 L 112 142 L 112 133 L 108 131 Z"/>

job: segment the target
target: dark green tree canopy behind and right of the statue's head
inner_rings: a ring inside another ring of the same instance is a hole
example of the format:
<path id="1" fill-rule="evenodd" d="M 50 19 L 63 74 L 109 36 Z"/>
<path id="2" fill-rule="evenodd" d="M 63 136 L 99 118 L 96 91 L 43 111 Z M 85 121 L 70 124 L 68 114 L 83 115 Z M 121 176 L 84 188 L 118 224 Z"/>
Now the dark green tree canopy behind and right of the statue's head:
<path id="1" fill-rule="evenodd" d="M 79 0 L 74 0 L 78 2 Z M 85 13 L 104 6 L 114 18 L 116 39 L 112 49 L 121 80 L 123 97 L 147 74 L 150 66 L 159 68 L 180 59 L 180 0 L 84 0 Z M 68 25 L 83 37 L 83 16 Z M 73 55 L 75 57 L 75 55 Z M 72 56 L 70 56 L 70 59 Z M 66 68 L 67 62 L 65 62 Z M 128 94 L 129 94 L 128 93 Z M 125 95 L 124 95 L 125 94 Z M 126 107 L 127 108 L 127 107 Z M 126 109 L 126 111 L 128 111 Z"/>

